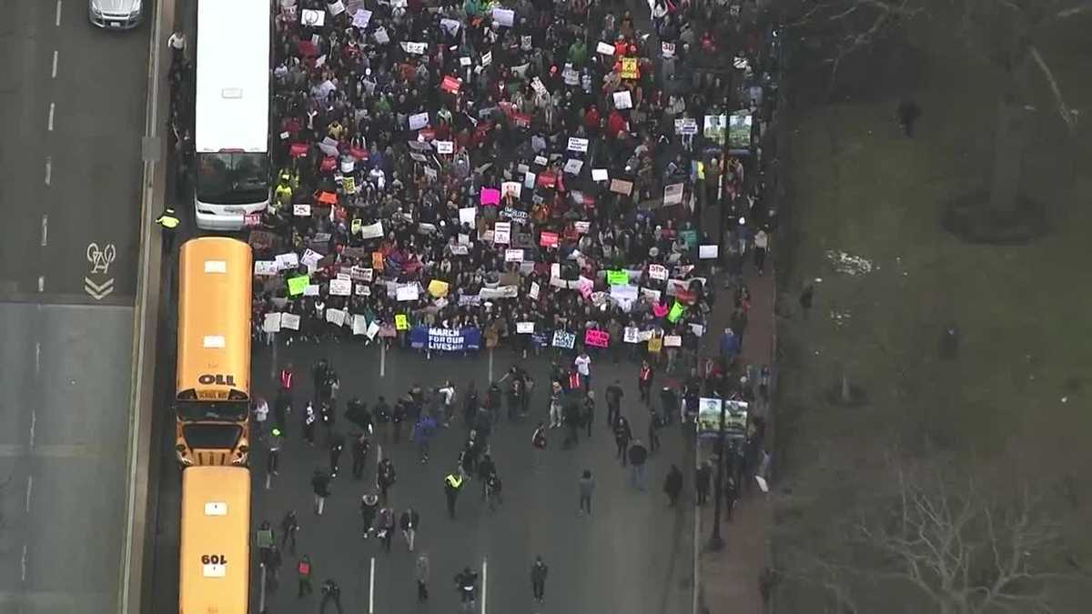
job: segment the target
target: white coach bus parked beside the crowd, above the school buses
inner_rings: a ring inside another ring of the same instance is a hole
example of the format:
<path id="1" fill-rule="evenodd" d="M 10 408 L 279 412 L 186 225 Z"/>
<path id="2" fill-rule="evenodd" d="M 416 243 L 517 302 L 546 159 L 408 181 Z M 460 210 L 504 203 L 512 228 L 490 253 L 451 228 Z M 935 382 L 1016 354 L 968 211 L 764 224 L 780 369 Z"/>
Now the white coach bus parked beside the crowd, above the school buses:
<path id="1" fill-rule="evenodd" d="M 198 226 L 237 231 L 270 203 L 270 0 L 199 0 L 193 201 Z"/>

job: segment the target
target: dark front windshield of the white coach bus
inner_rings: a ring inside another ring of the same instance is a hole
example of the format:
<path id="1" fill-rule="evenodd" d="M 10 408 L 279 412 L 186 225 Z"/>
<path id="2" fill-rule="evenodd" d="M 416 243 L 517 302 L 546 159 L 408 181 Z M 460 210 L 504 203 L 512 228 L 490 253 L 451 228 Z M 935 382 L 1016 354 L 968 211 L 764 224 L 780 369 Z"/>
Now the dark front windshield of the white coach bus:
<path id="1" fill-rule="evenodd" d="M 197 198 L 209 204 L 251 204 L 269 198 L 264 153 L 199 153 Z"/>

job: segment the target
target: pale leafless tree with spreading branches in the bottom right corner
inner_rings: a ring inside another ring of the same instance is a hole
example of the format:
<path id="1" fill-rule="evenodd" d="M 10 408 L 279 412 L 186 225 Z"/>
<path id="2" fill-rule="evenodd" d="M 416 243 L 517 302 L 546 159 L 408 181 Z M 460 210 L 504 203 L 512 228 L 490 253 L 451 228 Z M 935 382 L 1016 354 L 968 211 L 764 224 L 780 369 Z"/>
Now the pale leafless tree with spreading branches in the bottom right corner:
<path id="1" fill-rule="evenodd" d="M 889 506 L 839 523 L 828 552 L 794 551 L 783 576 L 822 589 L 836 612 L 906 595 L 939 614 L 1051 613 L 1059 583 L 1090 580 L 1030 486 L 990 496 L 973 479 L 893 471 Z"/>

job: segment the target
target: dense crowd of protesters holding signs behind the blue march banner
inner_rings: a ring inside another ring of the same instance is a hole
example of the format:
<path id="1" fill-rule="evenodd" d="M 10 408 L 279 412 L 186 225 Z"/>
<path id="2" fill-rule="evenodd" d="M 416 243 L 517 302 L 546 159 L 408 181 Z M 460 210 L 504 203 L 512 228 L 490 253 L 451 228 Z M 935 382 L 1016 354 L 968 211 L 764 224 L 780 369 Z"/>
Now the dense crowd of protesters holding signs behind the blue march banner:
<path id="1" fill-rule="evenodd" d="M 760 40 L 733 64 L 708 27 L 736 11 L 280 4 L 275 199 L 248 221 L 257 334 L 406 343 L 428 327 L 524 351 L 696 351 L 710 265 L 731 270 L 769 222 L 761 181 L 707 125 L 743 99 L 757 143 L 771 109 Z M 747 67 L 734 93 L 725 66 Z M 712 205 L 732 222 L 723 246 L 698 229 Z"/>

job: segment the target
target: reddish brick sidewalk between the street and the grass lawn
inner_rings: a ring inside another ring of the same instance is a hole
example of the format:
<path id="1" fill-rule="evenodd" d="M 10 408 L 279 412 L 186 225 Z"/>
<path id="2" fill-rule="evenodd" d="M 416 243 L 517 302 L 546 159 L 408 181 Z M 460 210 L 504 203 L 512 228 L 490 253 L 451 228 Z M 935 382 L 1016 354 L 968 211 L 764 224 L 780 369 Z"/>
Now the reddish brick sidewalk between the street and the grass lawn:
<path id="1" fill-rule="evenodd" d="M 776 295 L 773 271 L 759 276 L 749 263 L 745 267 L 747 287 L 751 293 L 744 338 L 743 363 L 761 368 L 772 362 L 774 340 L 773 306 Z M 729 298 L 722 298 L 729 299 Z M 711 340 L 720 338 L 727 326 L 731 309 L 716 309 L 710 319 Z M 708 342 L 707 342 L 708 343 Z M 715 352 L 715 347 L 713 349 Z M 767 441 L 773 436 L 772 420 L 768 421 Z M 700 508 L 699 603 L 704 614 L 760 614 L 764 610 L 759 592 L 759 576 L 767 565 L 767 534 L 770 528 L 769 498 L 757 487 L 740 494 L 732 522 L 722 516 L 721 535 L 724 550 L 709 552 L 705 546 L 713 527 L 713 503 Z M 722 510 L 723 512 L 723 510 Z"/>

